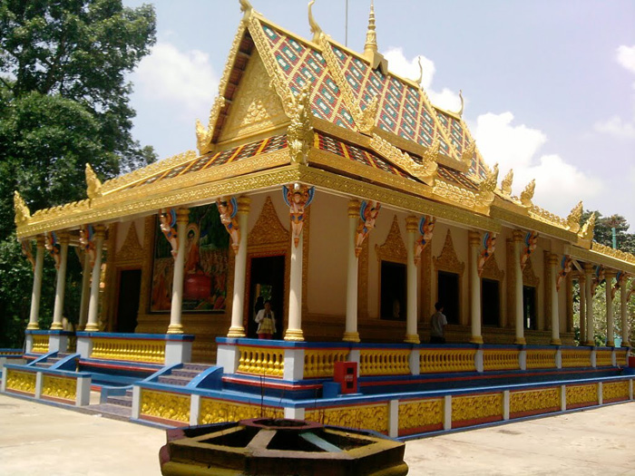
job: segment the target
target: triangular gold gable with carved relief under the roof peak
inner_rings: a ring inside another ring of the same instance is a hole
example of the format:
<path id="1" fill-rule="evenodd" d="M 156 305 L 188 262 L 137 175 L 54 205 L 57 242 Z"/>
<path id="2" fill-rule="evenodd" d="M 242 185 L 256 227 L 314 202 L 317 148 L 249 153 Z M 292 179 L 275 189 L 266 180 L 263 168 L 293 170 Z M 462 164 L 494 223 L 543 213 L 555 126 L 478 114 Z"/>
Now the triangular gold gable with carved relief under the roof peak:
<path id="1" fill-rule="evenodd" d="M 270 85 L 259 53 L 254 50 L 220 132 L 220 142 L 269 131 L 285 122 L 288 117 L 282 102 Z"/>

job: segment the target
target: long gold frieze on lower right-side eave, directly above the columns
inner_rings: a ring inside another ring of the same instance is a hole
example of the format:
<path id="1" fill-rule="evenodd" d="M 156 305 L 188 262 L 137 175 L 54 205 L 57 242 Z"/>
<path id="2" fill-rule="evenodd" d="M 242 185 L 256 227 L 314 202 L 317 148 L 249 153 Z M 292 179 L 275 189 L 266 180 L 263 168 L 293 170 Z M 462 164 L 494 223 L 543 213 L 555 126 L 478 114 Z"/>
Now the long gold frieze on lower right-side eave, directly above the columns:
<path id="1" fill-rule="evenodd" d="M 462 223 L 474 228 L 489 229 L 496 233 L 501 230 L 500 224 L 494 222 L 493 219 L 476 215 L 471 211 L 458 209 L 446 205 L 445 203 L 414 197 L 396 190 L 342 177 L 326 170 L 317 170 L 303 166 L 298 166 L 298 170 L 300 176 L 298 180 L 303 183 L 310 183 L 325 189 L 337 190 L 357 198 L 376 200 L 381 202 L 383 206 L 390 205 L 398 209 L 404 209 L 422 215 L 434 215 L 439 219 Z"/>

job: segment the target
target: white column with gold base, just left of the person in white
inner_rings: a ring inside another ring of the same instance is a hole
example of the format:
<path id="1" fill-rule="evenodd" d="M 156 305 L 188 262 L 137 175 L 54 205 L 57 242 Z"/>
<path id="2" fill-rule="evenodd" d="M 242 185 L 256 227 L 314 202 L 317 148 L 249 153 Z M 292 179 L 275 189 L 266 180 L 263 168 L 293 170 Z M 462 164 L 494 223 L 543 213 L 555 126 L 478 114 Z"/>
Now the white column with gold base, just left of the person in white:
<path id="1" fill-rule="evenodd" d="M 239 197 L 238 199 L 238 221 L 240 231 L 239 250 L 234 261 L 234 296 L 231 299 L 231 326 L 228 337 L 244 337 L 245 328 L 242 325 L 242 318 L 245 312 L 245 282 L 247 275 L 247 236 L 249 218 L 249 204 L 251 199 Z"/>

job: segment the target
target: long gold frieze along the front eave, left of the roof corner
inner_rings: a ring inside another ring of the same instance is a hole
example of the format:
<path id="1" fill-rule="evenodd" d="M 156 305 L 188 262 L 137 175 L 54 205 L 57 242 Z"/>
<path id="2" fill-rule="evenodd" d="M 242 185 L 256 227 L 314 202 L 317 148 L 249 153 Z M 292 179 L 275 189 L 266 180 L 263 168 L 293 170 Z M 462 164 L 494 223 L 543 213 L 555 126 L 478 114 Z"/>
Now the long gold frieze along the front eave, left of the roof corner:
<path id="1" fill-rule="evenodd" d="M 288 152 L 282 152 L 287 156 L 285 159 L 288 163 Z M 51 229 L 72 228 L 85 223 L 97 223 L 130 215 L 152 213 L 163 208 L 186 206 L 190 203 L 200 203 L 203 200 L 211 201 L 222 195 L 246 193 L 298 180 L 300 180 L 298 166 L 288 165 L 248 176 L 203 183 L 187 189 L 169 187 L 161 190 L 163 193 L 156 196 L 149 196 L 149 193 L 144 193 L 144 188 L 140 188 L 140 190 L 133 191 L 126 201 L 104 197 L 101 199 L 103 201 L 99 202 L 99 207 L 86 209 L 81 214 L 63 215 L 55 219 L 30 223 L 24 228 L 18 228 L 18 238 L 31 237 Z"/>

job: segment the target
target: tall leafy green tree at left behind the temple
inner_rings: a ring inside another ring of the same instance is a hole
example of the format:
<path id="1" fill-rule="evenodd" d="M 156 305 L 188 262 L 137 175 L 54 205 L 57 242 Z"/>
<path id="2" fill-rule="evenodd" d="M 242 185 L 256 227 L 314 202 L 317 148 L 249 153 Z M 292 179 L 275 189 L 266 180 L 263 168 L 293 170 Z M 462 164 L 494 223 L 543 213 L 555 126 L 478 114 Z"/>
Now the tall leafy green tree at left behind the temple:
<path id="1" fill-rule="evenodd" d="M 151 147 L 132 140 L 131 85 L 124 79 L 149 53 L 155 24 L 151 5 L 124 8 L 121 0 L 0 0 L 3 335 L 15 322 L 24 330 L 31 293 L 24 277 L 32 275 L 15 241 L 14 190 L 32 210 L 43 209 L 86 198 L 86 162 L 107 180 L 156 160 Z M 66 306 L 78 301 L 74 261 L 69 259 Z M 54 279 L 44 277 L 49 281 Z M 53 302 L 53 292 L 44 286 L 44 319 L 50 318 L 46 303 Z M 64 313 L 77 317 L 73 309 Z M 5 345 L 15 345 L 9 340 Z"/>

